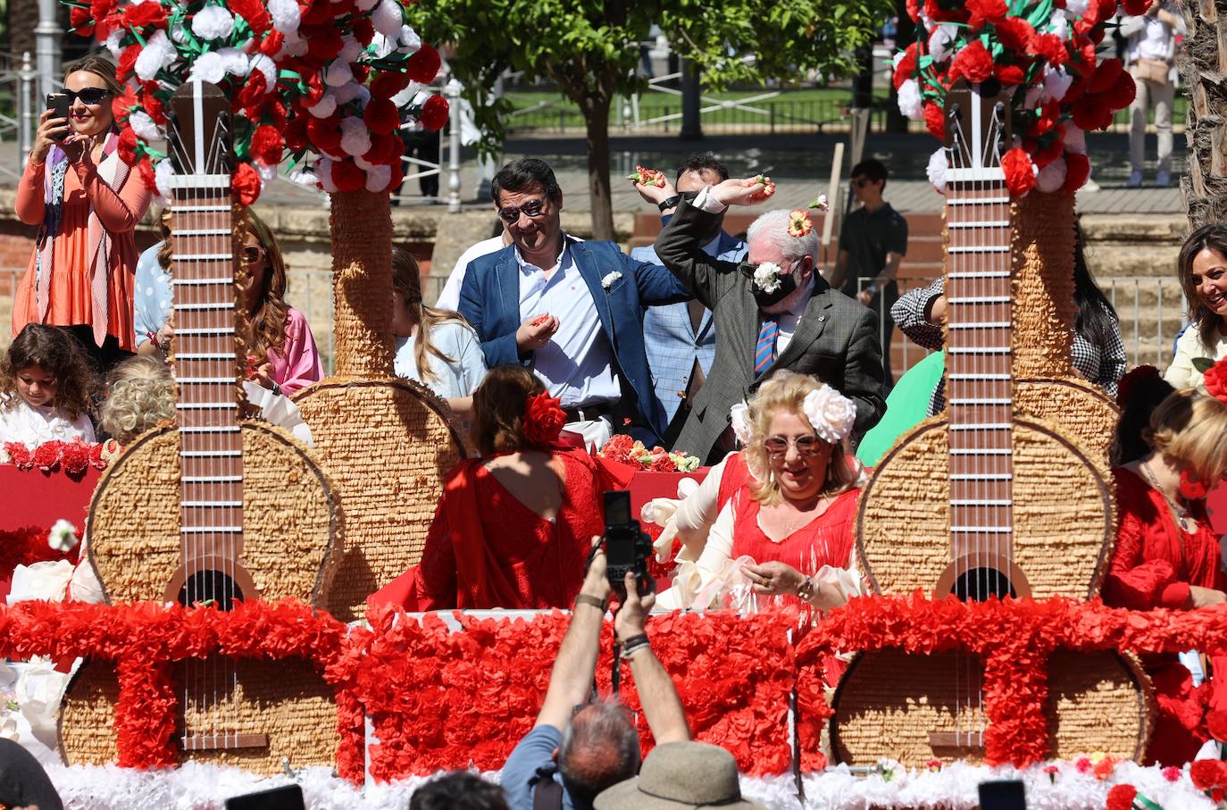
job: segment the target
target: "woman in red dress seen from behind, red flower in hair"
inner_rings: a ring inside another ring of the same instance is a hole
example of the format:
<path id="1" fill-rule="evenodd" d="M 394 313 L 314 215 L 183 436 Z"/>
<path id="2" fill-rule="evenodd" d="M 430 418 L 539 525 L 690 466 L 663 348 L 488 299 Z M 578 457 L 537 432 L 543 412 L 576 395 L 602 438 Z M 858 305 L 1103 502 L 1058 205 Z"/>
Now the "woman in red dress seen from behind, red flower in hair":
<path id="1" fill-rule="evenodd" d="M 604 533 L 601 491 L 625 488 L 627 468 L 558 443 L 566 415 L 528 369 L 492 369 L 474 392 L 472 441 L 443 484 L 422 561 L 371 605 L 410 611 L 571 608 L 593 538 Z"/>

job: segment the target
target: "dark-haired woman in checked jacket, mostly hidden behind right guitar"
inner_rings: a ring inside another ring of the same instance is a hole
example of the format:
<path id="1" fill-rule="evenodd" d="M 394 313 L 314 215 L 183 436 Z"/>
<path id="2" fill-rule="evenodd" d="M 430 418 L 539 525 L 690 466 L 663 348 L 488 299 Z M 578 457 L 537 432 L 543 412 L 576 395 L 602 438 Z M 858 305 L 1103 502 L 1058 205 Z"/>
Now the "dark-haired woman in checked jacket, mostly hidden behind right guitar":
<path id="1" fill-rule="evenodd" d="M 1074 241 L 1074 344 L 1070 361 L 1074 372 L 1094 383 L 1109 396 L 1117 395 L 1117 383 L 1125 373 L 1128 358 L 1125 341 L 1120 338 L 1120 319 L 1117 309 L 1103 295 L 1091 275 L 1082 252 L 1082 228 L 1076 227 Z M 891 317 L 912 342 L 930 351 L 945 346 L 941 334 L 946 320 L 946 277 L 939 276 L 928 287 L 918 287 L 904 293 L 891 307 Z M 946 406 L 945 378 L 937 383 L 929 400 L 929 415 Z"/>

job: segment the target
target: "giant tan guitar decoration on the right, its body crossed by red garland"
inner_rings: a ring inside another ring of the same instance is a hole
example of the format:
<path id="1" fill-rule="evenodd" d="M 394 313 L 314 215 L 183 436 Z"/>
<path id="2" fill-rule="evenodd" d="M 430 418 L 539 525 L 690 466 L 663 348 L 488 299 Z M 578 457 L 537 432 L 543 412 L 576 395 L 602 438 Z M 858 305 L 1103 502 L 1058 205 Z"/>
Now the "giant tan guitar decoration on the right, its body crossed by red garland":
<path id="1" fill-rule="evenodd" d="M 858 552 L 876 593 L 1090 598 L 1114 540 L 1112 406 L 1069 373 L 1072 195 L 1011 200 L 996 93 L 961 81 L 946 98 L 947 410 L 901 437 L 861 493 Z M 859 655 L 832 703 L 834 758 L 983 757 L 982 676 L 971 653 Z M 1056 653 L 1049 690 L 1053 757 L 1141 755 L 1135 660 Z"/>

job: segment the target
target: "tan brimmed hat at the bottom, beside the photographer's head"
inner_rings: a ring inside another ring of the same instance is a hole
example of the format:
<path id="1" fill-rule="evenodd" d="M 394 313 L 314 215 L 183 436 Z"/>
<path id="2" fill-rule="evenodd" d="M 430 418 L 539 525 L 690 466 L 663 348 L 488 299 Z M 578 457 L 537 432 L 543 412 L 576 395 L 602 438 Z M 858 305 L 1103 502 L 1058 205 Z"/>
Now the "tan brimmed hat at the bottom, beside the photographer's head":
<path id="1" fill-rule="evenodd" d="M 728 808 L 766 810 L 741 798 L 737 761 L 718 745 L 665 742 L 643 760 L 639 776 L 596 796 L 596 810 L 681 810 Z"/>

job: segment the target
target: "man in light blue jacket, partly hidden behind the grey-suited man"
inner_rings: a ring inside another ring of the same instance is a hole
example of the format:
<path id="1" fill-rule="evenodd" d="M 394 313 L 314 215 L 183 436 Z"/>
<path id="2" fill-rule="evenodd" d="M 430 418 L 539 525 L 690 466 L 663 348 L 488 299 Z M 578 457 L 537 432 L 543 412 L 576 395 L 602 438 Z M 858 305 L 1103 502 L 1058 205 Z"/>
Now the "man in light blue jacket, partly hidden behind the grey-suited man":
<path id="1" fill-rule="evenodd" d="M 724 163 L 710 152 L 697 152 L 679 167 L 675 187 L 666 187 L 661 191 L 667 193 L 664 201 L 658 204 L 653 199 L 644 199 L 658 205 L 661 225 L 667 225 L 682 198 L 693 201 L 704 187 L 717 185 L 726 179 L 729 169 Z M 741 261 L 746 258 L 746 243 L 725 233 L 723 226 L 721 215 L 713 233 L 703 239 L 703 250 L 724 261 Z M 650 245 L 636 248 L 631 252 L 631 258 L 663 264 L 655 248 Z M 643 341 L 656 400 L 665 409 L 665 418 L 669 421 L 665 447 L 671 447 L 681 433 L 690 403 L 694 400 L 712 371 L 712 361 L 715 360 L 715 323 L 712 310 L 698 299 L 648 307 L 643 313 Z"/>

